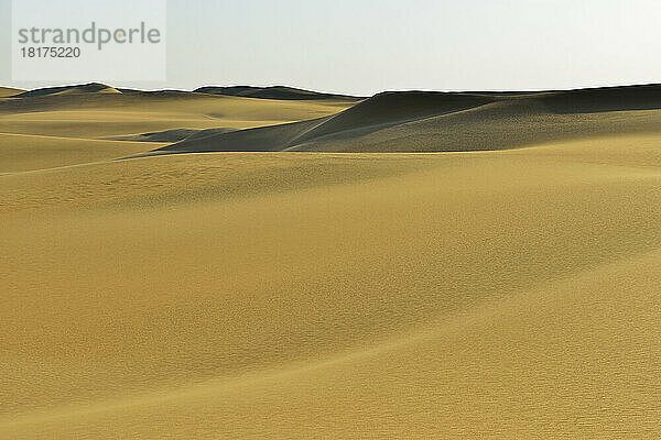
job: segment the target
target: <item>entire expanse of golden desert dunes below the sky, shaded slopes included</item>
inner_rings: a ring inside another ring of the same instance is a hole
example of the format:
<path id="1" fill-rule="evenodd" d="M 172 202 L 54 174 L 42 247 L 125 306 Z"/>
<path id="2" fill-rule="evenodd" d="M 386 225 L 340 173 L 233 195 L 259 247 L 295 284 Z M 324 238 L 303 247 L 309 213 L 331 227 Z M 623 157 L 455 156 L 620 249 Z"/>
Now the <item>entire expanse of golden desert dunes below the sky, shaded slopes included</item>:
<path id="1" fill-rule="evenodd" d="M 661 86 L 310 94 L 0 98 L 1 438 L 661 437 Z"/>

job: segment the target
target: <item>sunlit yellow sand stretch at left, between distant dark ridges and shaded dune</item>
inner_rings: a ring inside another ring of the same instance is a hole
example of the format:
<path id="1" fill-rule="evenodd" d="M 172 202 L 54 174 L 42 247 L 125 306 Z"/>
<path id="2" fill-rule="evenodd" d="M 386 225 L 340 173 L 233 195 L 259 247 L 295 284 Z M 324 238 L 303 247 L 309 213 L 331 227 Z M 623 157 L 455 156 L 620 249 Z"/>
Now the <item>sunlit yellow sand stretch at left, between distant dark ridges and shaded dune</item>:
<path id="1" fill-rule="evenodd" d="M 51 94 L 0 100 L 0 133 L 130 139 L 169 130 L 272 125 L 326 117 L 349 106 L 332 100 L 253 100 L 183 91 Z"/>

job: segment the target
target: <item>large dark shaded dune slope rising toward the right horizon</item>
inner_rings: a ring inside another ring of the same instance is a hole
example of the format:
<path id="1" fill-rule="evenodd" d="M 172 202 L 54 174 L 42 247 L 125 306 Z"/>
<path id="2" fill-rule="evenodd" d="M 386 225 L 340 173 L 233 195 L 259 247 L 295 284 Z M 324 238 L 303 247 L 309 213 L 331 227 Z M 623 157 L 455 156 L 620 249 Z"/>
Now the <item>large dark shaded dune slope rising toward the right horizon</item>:
<path id="1" fill-rule="evenodd" d="M 172 152 L 448 152 L 661 131 L 661 87 L 549 92 L 384 92 L 327 118 L 207 133 Z"/>

